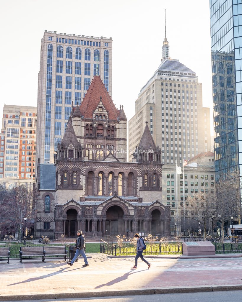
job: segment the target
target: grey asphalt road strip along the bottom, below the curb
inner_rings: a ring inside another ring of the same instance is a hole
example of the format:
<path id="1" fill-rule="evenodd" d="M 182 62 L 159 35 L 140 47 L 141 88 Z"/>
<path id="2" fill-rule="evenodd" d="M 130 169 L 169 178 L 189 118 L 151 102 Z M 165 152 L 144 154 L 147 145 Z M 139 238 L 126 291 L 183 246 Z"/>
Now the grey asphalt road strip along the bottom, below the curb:
<path id="1" fill-rule="evenodd" d="M 102 298 L 79 298 L 79 299 L 54 299 L 54 300 L 24 300 L 18 302 L 76 302 L 94 300 L 95 302 L 228 302 L 240 301 L 242 291 L 217 291 L 191 294 L 161 294 L 161 295 L 137 295 Z M 8 301 L 16 302 L 16 301 Z"/>

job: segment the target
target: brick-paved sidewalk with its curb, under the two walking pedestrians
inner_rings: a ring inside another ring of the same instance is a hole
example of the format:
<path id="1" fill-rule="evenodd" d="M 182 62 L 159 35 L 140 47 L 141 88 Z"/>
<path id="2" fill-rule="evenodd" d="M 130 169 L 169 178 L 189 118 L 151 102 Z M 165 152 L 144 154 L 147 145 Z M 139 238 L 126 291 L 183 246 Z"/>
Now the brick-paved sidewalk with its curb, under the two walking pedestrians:
<path id="1" fill-rule="evenodd" d="M 18 260 L 0 263 L 0 300 L 104 297 L 242 289 L 242 258 L 158 258 L 152 264 L 134 257 L 112 258 L 88 254 L 89 266 L 80 258 L 72 267 L 61 259 Z M 236 254 L 233 254 L 236 255 Z M 220 255 L 224 256 L 224 255 Z M 232 256 L 232 255 L 230 255 Z M 241 256 L 241 255 L 240 255 Z"/>

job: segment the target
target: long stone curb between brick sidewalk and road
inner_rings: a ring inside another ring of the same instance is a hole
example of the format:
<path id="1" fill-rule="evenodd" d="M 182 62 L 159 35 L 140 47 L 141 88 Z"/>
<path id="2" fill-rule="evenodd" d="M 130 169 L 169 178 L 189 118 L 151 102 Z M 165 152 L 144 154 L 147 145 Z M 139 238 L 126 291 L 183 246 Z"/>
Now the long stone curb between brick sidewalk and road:
<path id="1" fill-rule="evenodd" d="M 154 294 L 183 294 L 198 293 L 208 291 L 240 291 L 242 284 L 236 285 L 211 285 L 211 286 L 191 286 L 191 287 L 170 287 L 170 288 L 144 288 L 117 291 L 87 291 L 59 294 L 29 294 L 29 295 L 9 295 L 1 296 L 0 301 L 19 300 L 43 300 L 43 299 L 73 299 L 73 298 L 93 298 L 93 297 L 114 297 L 114 296 L 135 296 Z"/>

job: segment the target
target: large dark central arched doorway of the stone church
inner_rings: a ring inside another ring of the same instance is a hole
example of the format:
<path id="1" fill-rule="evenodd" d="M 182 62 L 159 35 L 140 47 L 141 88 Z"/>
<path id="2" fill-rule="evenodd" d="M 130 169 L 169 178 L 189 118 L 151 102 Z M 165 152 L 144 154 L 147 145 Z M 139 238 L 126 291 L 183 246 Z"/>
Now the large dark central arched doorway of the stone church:
<path id="1" fill-rule="evenodd" d="M 106 235 L 124 234 L 124 212 L 119 206 L 112 206 L 106 211 Z"/>

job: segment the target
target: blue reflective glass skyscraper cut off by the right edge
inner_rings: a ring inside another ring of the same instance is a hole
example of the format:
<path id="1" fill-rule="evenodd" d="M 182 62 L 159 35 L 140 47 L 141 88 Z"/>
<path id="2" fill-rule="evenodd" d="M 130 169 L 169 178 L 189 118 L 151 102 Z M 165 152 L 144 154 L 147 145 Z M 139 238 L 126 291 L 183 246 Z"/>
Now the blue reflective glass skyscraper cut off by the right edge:
<path id="1" fill-rule="evenodd" d="M 215 179 L 242 175 L 242 0 L 210 0 Z"/>

